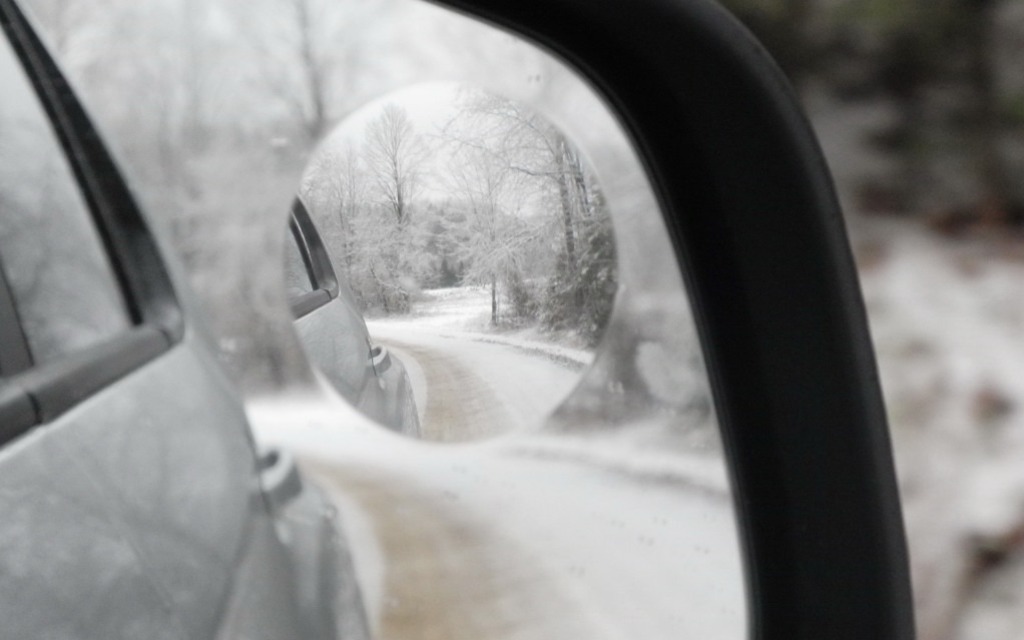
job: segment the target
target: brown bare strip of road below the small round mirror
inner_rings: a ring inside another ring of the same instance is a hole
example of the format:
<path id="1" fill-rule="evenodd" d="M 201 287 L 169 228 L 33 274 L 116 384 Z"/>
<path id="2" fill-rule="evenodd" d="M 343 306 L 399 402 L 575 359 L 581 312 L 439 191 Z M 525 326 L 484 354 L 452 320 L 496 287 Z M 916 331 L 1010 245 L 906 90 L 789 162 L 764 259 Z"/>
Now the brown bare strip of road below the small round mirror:
<path id="1" fill-rule="evenodd" d="M 603 637 L 530 550 L 451 489 L 368 467 L 310 470 L 372 522 L 385 559 L 372 623 L 380 640 Z"/>

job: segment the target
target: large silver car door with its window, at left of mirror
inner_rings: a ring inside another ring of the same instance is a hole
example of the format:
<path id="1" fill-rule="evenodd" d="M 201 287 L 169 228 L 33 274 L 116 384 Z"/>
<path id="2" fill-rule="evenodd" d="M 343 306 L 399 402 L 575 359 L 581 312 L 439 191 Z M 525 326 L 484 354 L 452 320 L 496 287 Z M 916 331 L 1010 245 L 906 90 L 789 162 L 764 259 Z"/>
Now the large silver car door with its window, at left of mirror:
<path id="1" fill-rule="evenodd" d="M 241 403 L 85 113 L 0 18 L 0 635 L 214 637 L 244 554 L 273 564 Z"/>

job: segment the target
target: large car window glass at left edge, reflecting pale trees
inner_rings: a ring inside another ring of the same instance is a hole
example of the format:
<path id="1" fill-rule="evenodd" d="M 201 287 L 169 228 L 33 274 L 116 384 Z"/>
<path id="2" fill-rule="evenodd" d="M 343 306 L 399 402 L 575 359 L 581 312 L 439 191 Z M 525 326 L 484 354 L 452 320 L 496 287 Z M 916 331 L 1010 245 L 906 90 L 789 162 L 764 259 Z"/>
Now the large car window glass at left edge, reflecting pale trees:
<path id="1" fill-rule="evenodd" d="M 62 150 L 0 42 L 0 264 L 33 359 L 89 347 L 131 323 Z"/>

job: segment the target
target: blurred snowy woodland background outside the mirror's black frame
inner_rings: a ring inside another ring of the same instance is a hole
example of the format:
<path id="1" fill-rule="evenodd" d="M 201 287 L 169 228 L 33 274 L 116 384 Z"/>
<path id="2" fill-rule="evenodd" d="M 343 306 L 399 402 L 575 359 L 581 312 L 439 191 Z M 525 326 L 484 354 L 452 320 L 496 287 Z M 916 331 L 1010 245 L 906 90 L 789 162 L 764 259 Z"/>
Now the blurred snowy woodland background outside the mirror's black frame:
<path id="1" fill-rule="evenodd" d="M 1024 2 L 724 0 L 790 76 L 860 269 L 919 637 L 1024 637 Z"/>

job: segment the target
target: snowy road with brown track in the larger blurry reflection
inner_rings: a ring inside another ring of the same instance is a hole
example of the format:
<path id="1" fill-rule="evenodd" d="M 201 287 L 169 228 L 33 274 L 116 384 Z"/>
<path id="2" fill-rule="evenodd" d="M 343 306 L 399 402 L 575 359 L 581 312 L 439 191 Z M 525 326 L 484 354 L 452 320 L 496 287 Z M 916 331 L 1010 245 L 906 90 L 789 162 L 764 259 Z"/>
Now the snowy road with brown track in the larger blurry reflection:
<path id="1" fill-rule="evenodd" d="M 263 442 L 345 498 L 346 519 L 354 503 L 370 523 L 353 555 L 378 637 L 744 637 L 725 496 L 510 439 L 413 441 L 327 400 L 251 417 Z"/>

